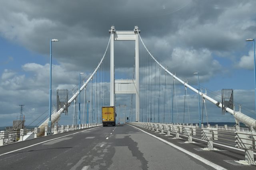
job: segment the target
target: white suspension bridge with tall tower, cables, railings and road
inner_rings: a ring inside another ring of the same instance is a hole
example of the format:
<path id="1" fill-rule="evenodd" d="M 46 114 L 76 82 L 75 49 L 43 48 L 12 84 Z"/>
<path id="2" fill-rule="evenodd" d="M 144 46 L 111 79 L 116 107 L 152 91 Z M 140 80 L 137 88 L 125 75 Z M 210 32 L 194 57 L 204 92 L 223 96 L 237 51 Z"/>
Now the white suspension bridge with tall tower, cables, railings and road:
<path id="1" fill-rule="evenodd" d="M 50 111 L 50 120 L 34 129 L 1 131 L 1 168 L 255 168 L 255 113 L 243 113 L 232 90 L 206 90 L 199 85 L 199 72 L 194 73 L 198 82 L 176 76 L 148 50 L 138 26 L 132 31 L 112 26 L 109 33 L 95 70 L 72 93 L 57 91 L 57 110 Z M 114 41 L 135 41 L 132 69 L 123 70 L 131 70 L 129 78 L 116 78 Z M 102 127 L 102 106 L 118 108 L 118 126 Z M 69 107 L 74 108 L 72 125 L 59 125 Z M 209 113 L 208 107 L 216 111 Z M 225 113 L 233 127 L 210 125 L 212 114 Z M 17 138 L 19 142 L 11 142 Z"/>

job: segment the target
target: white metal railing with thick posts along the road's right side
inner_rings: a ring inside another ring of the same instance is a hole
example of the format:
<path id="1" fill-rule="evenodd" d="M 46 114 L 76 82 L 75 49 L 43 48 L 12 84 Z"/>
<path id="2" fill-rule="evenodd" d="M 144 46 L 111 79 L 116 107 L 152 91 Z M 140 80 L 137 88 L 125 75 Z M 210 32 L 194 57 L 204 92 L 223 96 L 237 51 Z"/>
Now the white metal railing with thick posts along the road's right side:
<path id="1" fill-rule="evenodd" d="M 218 150 L 214 145 L 224 145 L 243 149 L 245 160 L 236 161 L 240 164 L 256 165 L 254 161 L 254 152 L 256 152 L 256 132 L 254 128 L 228 127 L 227 125 L 204 126 L 199 128 L 197 124 L 179 124 L 179 123 L 146 123 L 129 122 L 128 124 L 149 129 L 156 133 L 167 136 L 174 136 L 174 139 L 185 137 L 188 139 L 185 143 L 194 143 L 192 140 L 207 142 L 207 147 L 203 150 Z M 214 142 L 213 142 L 214 141 Z"/>

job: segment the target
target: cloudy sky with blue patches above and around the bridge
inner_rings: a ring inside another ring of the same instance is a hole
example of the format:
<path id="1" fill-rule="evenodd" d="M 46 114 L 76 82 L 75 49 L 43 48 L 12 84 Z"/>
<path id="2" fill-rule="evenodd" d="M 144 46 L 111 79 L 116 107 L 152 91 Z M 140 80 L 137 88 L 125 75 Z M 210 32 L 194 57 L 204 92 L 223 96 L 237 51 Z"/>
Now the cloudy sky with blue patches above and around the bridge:
<path id="1" fill-rule="evenodd" d="M 245 39 L 255 38 L 255 6 L 255 0 L 0 0 L 0 126 L 12 125 L 20 104 L 26 125 L 47 115 L 50 39 L 60 40 L 52 50 L 53 93 L 72 90 L 79 72 L 86 77 L 98 65 L 111 25 L 138 25 L 148 49 L 176 76 L 197 82 L 199 72 L 202 86 L 218 93 L 233 88 L 235 102 L 254 110 L 253 43 Z M 132 45 L 116 43 L 120 73 L 133 70 L 126 65 L 133 63 Z M 210 121 L 234 121 L 216 112 Z M 72 123 L 71 115 L 62 123 Z"/>

